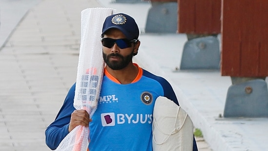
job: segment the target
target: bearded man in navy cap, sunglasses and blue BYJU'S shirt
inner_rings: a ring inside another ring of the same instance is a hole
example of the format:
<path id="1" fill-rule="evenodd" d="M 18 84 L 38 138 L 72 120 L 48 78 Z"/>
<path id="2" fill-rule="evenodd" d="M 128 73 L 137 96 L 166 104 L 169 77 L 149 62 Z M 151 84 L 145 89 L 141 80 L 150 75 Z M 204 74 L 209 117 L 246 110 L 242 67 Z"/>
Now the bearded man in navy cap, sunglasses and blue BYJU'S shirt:
<path id="1" fill-rule="evenodd" d="M 106 63 L 99 105 L 92 117 L 75 110 L 75 84 L 56 120 L 46 129 L 46 144 L 55 150 L 76 126 L 89 126 L 90 151 L 152 151 L 155 100 L 165 96 L 179 105 L 170 84 L 132 62 L 140 46 L 135 20 L 123 13 L 108 16 L 101 42 Z M 179 142 L 178 142 L 179 143 Z M 197 151 L 194 140 L 193 150 Z"/>

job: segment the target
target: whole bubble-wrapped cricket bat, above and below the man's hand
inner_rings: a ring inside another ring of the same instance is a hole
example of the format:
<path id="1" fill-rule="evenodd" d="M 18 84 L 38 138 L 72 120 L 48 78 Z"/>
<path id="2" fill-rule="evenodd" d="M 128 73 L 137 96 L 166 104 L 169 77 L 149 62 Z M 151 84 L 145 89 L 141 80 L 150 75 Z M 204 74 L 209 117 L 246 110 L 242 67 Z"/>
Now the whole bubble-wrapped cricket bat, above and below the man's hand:
<path id="1" fill-rule="evenodd" d="M 104 61 L 100 37 L 111 8 L 87 8 L 81 12 L 81 45 L 77 69 L 74 107 L 85 109 L 90 117 L 97 109 L 103 79 Z M 56 151 L 87 151 L 89 128 L 77 126 Z"/>

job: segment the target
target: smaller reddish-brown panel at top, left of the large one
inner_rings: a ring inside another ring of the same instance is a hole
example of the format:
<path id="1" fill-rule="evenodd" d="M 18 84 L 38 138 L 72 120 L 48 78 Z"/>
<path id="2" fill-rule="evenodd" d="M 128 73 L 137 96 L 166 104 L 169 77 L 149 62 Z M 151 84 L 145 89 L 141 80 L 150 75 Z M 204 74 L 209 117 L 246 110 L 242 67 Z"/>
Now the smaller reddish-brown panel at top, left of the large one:
<path id="1" fill-rule="evenodd" d="M 178 0 L 178 31 L 186 34 L 221 32 L 221 0 Z"/>

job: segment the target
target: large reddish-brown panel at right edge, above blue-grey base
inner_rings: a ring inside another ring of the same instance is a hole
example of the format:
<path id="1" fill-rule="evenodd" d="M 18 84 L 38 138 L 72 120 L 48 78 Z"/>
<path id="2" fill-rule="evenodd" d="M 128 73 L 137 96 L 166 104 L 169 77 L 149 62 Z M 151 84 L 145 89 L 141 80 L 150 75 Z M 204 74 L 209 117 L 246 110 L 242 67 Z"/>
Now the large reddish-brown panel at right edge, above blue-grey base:
<path id="1" fill-rule="evenodd" d="M 222 75 L 268 76 L 268 0 L 223 0 Z"/>

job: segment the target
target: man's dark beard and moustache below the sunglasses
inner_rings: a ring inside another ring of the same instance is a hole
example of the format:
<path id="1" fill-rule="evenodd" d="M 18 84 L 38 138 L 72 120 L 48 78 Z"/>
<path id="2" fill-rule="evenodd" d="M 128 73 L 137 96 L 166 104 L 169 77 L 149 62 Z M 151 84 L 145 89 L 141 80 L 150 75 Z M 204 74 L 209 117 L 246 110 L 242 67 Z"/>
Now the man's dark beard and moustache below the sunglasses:
<path id="1" fill-rule="evenodd" d="M 125 57 L 118 53 L 112 53 L 109 55 L 103 53 L 103 60 L 106 63 L 106 65 L 108 65 L 111 69 L 120 70 L 126 67 L 132 61 L 133 51 Z M 121 61 L 109 61 L 110 57 L 119 57 L 121 58 Z"/>

